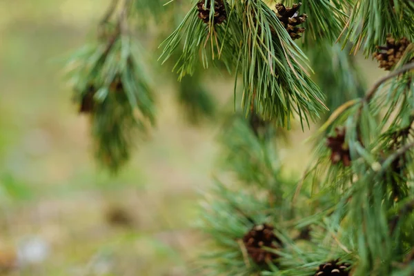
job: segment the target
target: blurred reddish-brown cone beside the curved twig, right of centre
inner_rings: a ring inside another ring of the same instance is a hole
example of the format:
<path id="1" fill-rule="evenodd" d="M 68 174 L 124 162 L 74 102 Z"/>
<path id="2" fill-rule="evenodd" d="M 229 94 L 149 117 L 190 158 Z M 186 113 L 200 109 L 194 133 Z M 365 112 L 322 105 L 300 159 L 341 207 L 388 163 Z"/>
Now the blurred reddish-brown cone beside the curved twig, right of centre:
<path id="1" fill-rule="evenodd" d="M 351 154 L 349 152 L 349 147 L 345 142 L 346 129 L 345 128 L 335 128 L 336 136 L 330 136 L 326 139 L 326 146 L 331 148 L 331 161 L 333 164 L 337 164 L 339 161 L 342 161 L 344 166 L 351 165 Z"/>

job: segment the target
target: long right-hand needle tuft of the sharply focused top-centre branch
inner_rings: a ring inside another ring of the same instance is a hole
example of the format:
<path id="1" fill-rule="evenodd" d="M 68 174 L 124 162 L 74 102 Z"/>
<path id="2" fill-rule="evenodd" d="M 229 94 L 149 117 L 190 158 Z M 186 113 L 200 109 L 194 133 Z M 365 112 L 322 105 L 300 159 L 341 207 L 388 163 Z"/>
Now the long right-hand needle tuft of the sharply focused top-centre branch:
<path id="1" fill-rule="evenodd" d="M 322 94 L 300 64 L 306 57 L 291 42 L 276 13 L 263 1 L 247 2 L 246 6 L 236 2 L 235 10 L 243 26 L 239 40 L 246 41 L 238 66 L 244 81 L 244 106 L 253 102 L 264 119 L 275 119 L 288 128 L 294 114 L 302 127 L 308 124 L 308 117 L 319 117 L 326 108 Z"/>

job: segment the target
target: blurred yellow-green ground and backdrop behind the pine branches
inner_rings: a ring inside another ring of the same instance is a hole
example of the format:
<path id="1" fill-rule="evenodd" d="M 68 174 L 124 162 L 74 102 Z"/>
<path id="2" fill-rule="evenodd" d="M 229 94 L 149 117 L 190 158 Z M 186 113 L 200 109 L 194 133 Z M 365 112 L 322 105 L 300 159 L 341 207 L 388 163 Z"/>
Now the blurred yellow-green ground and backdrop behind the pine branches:
<path id="1" fill-rule="evenodd" d="M 0 275 L 189 275 L 202 249 L 193 226 L 219 169 L 220 124 L 186 124 L 171 81 L 156 80 L 157 127 L 128 166 L 117 177 L 95 166 L 62 68 L 107 3 L 0 1 Z M 359 60 L 368 83 L 384 75 Z M 233 79 L 206 86 L 233 99 Z M 294 130 L 281 152 L 297 174 L 308 135 Z"/>

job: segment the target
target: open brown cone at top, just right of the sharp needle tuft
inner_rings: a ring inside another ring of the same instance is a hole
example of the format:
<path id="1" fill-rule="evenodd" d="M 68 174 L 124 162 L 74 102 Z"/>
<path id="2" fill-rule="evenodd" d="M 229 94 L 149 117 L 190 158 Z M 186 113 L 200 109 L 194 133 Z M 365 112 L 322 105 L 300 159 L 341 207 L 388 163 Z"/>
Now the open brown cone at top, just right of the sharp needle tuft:
<path id="1" fill-rule="evenodd" d="M 299 14 L 300 6 L 302 6 L 302 3 L 295 3 L 292 8 L 286 7 L 282 3 L 276 4 L 277 18 L 282 22 L 293 40 L 299 39 L 300 34 L 305 31 L 305 28 L 297 26 L 304 23 L 308 17 L 306 14 Z"/>

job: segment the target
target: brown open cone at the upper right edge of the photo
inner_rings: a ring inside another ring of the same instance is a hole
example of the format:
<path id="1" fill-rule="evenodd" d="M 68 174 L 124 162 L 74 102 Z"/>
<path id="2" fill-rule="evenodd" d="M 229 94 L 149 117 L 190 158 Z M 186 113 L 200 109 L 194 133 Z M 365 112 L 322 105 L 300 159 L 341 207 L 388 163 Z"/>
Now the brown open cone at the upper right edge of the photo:
<path id="1" fill-rule="evenodd" d="M 410 41 L 403 37 L 400 40 L 395 40 L 390 34 L 386 37 L 386 46 L 377 46 L 378 51 L 373 53 L 373 57 L 380 61 L 380 68 L 385 70 L 391 70 L 398 61 L 400 61 L 402 55 Z"/>

